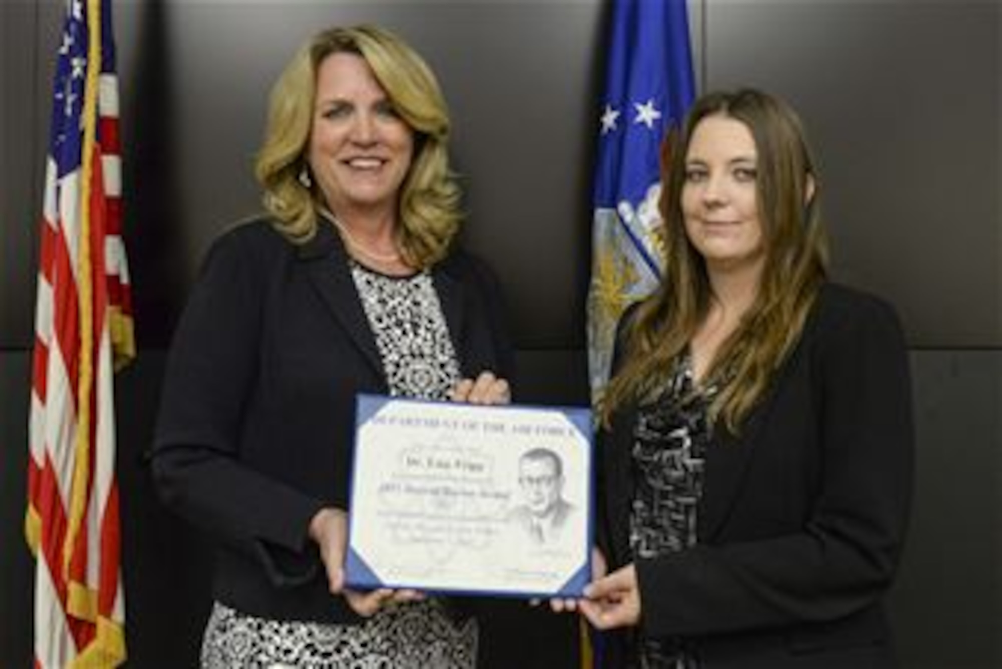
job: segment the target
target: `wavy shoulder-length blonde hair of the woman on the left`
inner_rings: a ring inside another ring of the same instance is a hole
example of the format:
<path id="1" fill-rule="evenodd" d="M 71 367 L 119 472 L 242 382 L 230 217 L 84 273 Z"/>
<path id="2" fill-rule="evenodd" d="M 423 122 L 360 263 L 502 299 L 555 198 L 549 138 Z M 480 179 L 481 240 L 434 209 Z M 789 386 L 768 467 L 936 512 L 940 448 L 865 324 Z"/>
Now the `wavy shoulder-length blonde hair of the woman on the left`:
<path id="1" fill-rule="evenodd" d="M 449 113 L 427 63 L 402 39 L 373 25 L 336 27 L 311 38 L 272 89 L 265 142 L 255 174 L 265 207 L 293 242 L 317 231 L 323 193 L 299 179 L 313 126 L 317 72 L 334 53 L 354 53 L 369 64 L 400 117 L 414 131 L 414 157 L 401 185 L 398 221 L 404 259 L 424 268 L 441 259 L 462 218 L 460 189 L 449 167 Z"/>

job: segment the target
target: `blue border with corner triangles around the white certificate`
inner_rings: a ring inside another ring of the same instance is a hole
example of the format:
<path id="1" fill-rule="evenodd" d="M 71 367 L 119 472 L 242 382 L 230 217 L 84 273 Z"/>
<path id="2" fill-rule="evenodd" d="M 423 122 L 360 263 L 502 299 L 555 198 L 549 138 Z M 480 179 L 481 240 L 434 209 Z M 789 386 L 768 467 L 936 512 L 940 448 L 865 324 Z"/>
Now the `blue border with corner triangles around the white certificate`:
<path id="1" fill-rule="evenodd" d="M 587 472 L 587 482 L 586 482 L 586 497 L 587 497 L 587 507 L 588 507 L 588 526 L 586 532 L 586 545 L 584 546 L 584 563 L 581 568 L 574 572 L 566 583 L 564 583 L 556 591 L 546 591 L 546 592 L 512 592 L 512 591 L 493 591 L 486 589 L 449 589 L 449 588 L 435 588 L 427 589 L 422 587 L 420 584 L 414 583 L 386 583 L 380 580 L 376 573 L 370 568 L 366 561 L 358 554 L 358 552 L 352 547 L 352 537 L 353 532 L 353 516 L 351 514 L 351 501 L 355 499 L 355 480 L 358 475 L 358 459 L 354 457 L 354 454 L 358 451 L 358 441 L 359 441 L 359 431 L 366 423 L 368 423 L 373 416 L 375 416 L 383 407 L 390 403 L 400 403 L 400 404 L 410 404 L 410 405 L 436 405 L 440 406 L 443 404 L 450 404 L 447 402 L 435 402 L 431 400 L 415 400 L 411 398 L 395 398 L 386 395 L 373 395 L 369 393 L 359 393 L 356 396 L 356 407 L 355 407 L 355 434 L 353 437 L 352 444 L 352 476 L 349 480 L 348 485 L 348 499 L 349 499 L 349 514 L 348 514 L 348 550 L 345 557 L 345 584 L 349 588 L 357 590 L 375 590 L 377 588 L 392 588 L 392 589 L 417 589 L 429 593 L 441 593 L 448 595 L 471 595 L 471 596 L 484 596 L 489 595 L 493 597 L 504 597 L 504 598 L 516 598 L 516 599 L 529 599 L 538 597 L 581 597 L 583 595 L 584 587 L 588 585 L 591 581 L 591 547 L 595 544 L 594 537 L 594 521 L 595 521 L 595 495 L 594 495 L 594 467 L 595 467 L 595 440 L 594 440 L 594 430 L 592 423 L 592 413 L 591 410 L 584 407 L 568 407 L 568 406 L 550 406 L 550 405 L 526 405 L 526 404 L 512 404 L 512 405 L 492 405 L 491 408 L 499 411 L 505 410 L 520 410 L 520 411 L 538 411 L 552 413 L 557 412 L 563 414 L 564 417 L 570 422 L 571 425 L 578 431 L 581 438 L 587 444 L 588 449 L 588 472 Z"/>

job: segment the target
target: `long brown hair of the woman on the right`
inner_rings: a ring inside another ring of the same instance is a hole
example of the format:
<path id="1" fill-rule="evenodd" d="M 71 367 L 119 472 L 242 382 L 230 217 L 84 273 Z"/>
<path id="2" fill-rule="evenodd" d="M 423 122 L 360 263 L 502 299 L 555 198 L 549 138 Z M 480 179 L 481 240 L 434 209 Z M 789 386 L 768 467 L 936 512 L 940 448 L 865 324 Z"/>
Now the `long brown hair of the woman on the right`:
<path id="1" fill-rule="evenodd" d="M 758 153 L 757 196 L 766 260 L 757 297 L 721 345 L 707 378 L 719 384 L 710 419 L 737 434 L 794 348 L 828 274 L 828 245 L 820 190 L 803 125 L 783 101 L 755 89 L 709 93 L 692 106 L 680 132 L 661 148 L 666 258 L 657 291 L 636 307 L 623 334 L 624 364 L 599 407 L 608 425 L 624 403 L 651 398 L 708 313 L 712 291 L 702 256 L 689 242 L 681 211 L 685 158 L 692 133 L 707 116 L 740 121 Z"/>

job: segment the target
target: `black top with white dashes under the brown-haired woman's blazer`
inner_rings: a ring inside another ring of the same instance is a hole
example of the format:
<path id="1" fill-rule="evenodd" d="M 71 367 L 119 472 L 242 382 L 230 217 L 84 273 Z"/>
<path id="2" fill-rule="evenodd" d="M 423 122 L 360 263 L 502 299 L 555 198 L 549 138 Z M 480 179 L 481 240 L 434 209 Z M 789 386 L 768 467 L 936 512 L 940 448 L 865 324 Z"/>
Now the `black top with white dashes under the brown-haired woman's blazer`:
<path id="1" fill-rule="evenodd" d="M 702 496 L 703 465 L 710 439 L 707 410 L 716 386 L 696 389 L 690 357 L 675 363 L 663 392 L 637 412 L 633 434 L 634 497 L 630 549 L 654 558 L 693 546 Z M 694 658 L 677 639 L 639 638 L 643 669 L 695 669 Z"/>

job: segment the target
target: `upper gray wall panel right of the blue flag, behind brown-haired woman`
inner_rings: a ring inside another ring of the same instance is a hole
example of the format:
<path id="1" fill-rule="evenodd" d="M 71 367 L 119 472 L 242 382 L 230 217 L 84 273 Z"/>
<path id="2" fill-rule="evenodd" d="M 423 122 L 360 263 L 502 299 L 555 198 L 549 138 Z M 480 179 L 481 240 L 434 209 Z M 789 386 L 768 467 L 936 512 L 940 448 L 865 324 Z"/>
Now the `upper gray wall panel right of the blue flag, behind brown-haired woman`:
<path id="1" fill-rule="evenodd" d="M 836 275 L 890 297 L 913 346 L 1002 345 L 1000 11 L 707 0 L 709 86 L 762 86 L 799 109 Z"/>

